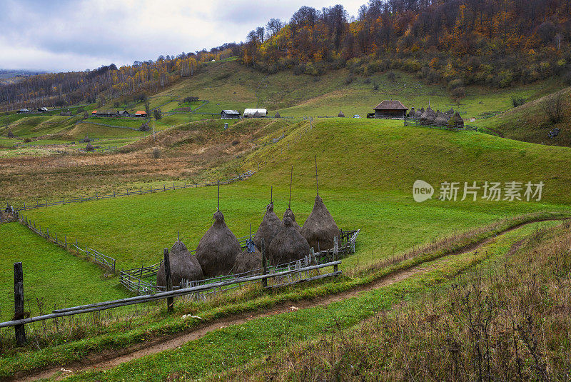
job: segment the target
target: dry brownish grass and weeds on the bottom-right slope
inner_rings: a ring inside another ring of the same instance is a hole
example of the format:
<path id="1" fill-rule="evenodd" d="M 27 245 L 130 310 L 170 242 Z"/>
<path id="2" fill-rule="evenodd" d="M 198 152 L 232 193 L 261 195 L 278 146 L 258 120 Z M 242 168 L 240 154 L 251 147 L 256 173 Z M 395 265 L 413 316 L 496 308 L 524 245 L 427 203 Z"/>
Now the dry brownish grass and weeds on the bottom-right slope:
<path id="1" fill-rule="evenodd" d="M 281 381 L 567 381 L 571 230 L 543 228 L 483 267 L 354 331 L 270 356 Z"/>

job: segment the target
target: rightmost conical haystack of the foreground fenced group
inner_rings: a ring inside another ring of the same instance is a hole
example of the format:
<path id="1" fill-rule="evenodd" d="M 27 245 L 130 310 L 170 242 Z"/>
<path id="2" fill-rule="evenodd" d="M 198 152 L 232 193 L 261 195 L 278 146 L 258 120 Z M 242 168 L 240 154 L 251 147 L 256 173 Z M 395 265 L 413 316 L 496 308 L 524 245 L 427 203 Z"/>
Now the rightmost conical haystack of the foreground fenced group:
<path id="1" fill-rule="evenodd" d="M 333 239 L 339 236 L 339 228 L 329 213 L 321 196 L 315 196 L 313 210 L 309 214 L 301 235 L 308 241 L 314 251 L 333 248 Z M 339 239 L 339 238 L 338 238 Z"/>

